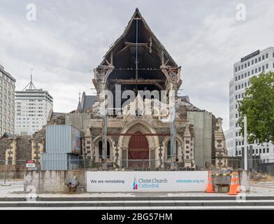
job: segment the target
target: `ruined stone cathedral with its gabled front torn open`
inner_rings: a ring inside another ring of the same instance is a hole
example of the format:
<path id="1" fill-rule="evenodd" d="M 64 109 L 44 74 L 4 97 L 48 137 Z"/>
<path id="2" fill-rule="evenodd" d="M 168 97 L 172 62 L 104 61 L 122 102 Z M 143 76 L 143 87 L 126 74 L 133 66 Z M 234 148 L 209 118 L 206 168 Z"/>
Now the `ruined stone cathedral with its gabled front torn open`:
<path id="1" fill-rule="evenodd" d="M 138 9 L 94 69 L 92 82 L 96 95 L 84 92 L 75 111 L 52 112 L 48 118 L 50 125 L 73 125 L 81 131 L 82 156 L 92 164 L 107 169 L 167 170 L 228 166 L 222 118 L 178 95 L 181 67 Z M 154 94 L 147 98 L 142 91 Z M 106 97 L 106 92 L 112 97 Z M 111 106 L 106 103 L 110 98 Z M 168 112 L 171 107 L 173 119 Z M 2 139 L 2 144 L 8 139 Z M 29 141 L 29 155 L 34 155 L 37 147 L 43 153 L 45 130 L 36 132 Z"/>

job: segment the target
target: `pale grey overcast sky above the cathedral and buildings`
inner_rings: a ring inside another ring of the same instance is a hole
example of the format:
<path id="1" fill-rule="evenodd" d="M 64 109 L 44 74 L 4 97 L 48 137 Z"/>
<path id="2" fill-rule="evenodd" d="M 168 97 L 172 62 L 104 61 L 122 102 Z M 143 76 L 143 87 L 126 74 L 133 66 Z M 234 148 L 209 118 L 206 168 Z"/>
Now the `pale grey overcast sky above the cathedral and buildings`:
<path id="1" fill-rule="evenodd" d="M 26 18 L 36 5 L 36 21 Z M 236 20 L 244 3 L 246 20 Z M 79 90 L 92 94 L 93 69 L 138 7 L 154 34 L 182 66 L 183 94 L 229 128 L 229 80 L 240 57 L 274 45 L 274 2 L 263 1 L 19 1 L 0 0 L 0 61 L 16 79 L 54 98 L 54 111 L 76 108 Z"/>

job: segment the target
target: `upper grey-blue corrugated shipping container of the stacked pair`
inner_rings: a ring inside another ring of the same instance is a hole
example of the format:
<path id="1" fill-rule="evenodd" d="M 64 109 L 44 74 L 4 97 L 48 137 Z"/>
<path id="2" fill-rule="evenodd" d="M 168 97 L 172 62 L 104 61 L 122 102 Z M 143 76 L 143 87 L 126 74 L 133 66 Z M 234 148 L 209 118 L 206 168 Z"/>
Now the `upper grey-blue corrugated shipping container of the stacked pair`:
<path id="1" fill-rule="evenodd" d="M 72 125 L 46 125 L 45 151 L 47 153 L 77 153 L 82 150 L 81 133 Z"/>

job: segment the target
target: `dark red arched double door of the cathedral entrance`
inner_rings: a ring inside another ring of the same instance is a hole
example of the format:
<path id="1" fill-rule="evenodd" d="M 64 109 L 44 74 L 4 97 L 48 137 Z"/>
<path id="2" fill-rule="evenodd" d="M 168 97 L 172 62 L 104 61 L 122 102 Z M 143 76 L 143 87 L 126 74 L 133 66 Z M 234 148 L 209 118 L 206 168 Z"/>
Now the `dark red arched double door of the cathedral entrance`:
<path id="1" fill-rule="evenodd" d="M 136 134 L 142 134 L 136 132 Z M 129 140 L 128 167 L 149 167 L 150 151 L 145 135 L 133 135 Z"/>

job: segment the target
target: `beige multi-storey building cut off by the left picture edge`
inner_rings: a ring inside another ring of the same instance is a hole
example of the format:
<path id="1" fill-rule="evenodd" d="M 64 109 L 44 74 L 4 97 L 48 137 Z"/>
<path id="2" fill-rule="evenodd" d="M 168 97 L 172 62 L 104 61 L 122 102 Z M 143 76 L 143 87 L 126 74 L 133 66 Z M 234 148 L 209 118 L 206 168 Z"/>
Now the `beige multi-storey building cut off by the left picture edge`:
<path id="1" fill-rule="evenodd" d="M 15 82 L 0 65 L 0 137 L 15 131 Z"/>

